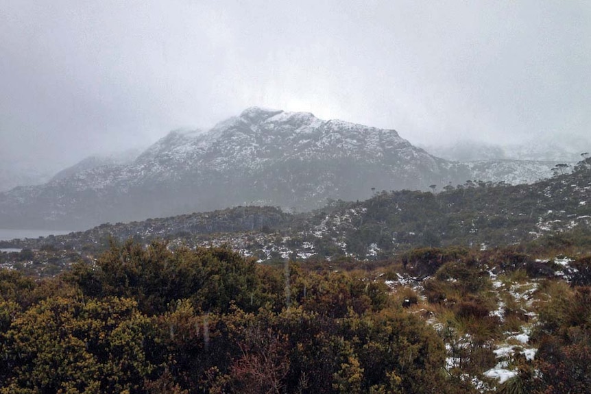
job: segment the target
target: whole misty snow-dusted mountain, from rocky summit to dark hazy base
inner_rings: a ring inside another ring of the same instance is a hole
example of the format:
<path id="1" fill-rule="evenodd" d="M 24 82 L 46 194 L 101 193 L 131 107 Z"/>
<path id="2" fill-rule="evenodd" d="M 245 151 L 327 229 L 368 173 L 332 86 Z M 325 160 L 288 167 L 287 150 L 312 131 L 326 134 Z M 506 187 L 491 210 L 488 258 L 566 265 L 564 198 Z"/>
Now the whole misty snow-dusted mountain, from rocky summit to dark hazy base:
<path id="1" fill-rule="evenodd" d="M 75 230 L 237 205 L 305 210 L 470 179 L 466 164 L 431 156 L 394 130 L 248 108 L 206 132 L 171 132 L 128 164 L 0 193 L 0 223 Z"/>

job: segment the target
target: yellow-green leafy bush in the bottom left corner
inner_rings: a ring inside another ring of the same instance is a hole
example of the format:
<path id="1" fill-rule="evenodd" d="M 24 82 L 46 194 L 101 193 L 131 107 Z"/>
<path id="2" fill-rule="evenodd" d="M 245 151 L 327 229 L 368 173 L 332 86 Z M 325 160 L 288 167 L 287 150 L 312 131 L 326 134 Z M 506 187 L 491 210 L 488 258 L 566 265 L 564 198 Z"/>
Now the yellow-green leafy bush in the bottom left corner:
<path id="1" fill-rule="evenodd" d="M 49 297 L 5 332 L 2 393 L 141 392 L 154 369 L 149 319 L 131 299 Z"/>

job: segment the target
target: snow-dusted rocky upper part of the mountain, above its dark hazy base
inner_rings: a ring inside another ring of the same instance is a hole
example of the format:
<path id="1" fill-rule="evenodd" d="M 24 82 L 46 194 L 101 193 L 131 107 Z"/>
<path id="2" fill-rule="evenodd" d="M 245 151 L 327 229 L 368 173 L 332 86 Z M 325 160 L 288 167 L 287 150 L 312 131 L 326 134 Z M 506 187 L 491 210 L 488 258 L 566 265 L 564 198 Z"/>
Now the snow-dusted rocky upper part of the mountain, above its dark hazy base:
<path id="1" fill-rule="evenodd" d="M 415 164 L 441 172 L 443 160 L 413 147 L 394 130 L 322 121 L 313 114 L 248 108 L 205 134 L 172 132 L 143 153 L 136 165 L 143 177 L 168 178 L 176 171 L 252 174 L 286 162 L 341 160 Z M 407 160 L 417 162 L 406 163 Z M 419 186 L 411 182 L 409 186 Z M 423 187 L 428 185 L 422 185 Z"/>

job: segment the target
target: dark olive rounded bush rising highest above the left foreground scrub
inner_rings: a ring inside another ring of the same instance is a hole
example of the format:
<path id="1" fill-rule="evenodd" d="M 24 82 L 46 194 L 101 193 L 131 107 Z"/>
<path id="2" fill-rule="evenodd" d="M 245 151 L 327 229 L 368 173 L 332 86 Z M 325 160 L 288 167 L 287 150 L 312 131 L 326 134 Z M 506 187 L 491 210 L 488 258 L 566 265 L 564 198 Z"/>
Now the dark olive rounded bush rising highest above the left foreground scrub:
<path id="1" fill-rule="evenodd" d="M 134 297 L 148 314 L 164 312 L 171 301 L 184 298 L 207 311 L 227 310 L 230 301 L 256 310 L 272 301 L 263 293 L 255 262 L 222 248 L 173 252 L 166 243 L 144 249 L 127 241 L 113 244 L 96 267 L 78 264 L 69 278 L 89 296 Z"/>

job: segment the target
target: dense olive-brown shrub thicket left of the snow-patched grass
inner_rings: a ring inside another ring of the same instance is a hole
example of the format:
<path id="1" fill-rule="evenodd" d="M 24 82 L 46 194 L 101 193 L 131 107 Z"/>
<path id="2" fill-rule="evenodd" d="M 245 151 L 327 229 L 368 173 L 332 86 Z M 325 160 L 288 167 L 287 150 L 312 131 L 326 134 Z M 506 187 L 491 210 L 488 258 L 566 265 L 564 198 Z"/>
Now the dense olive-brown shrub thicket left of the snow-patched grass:
<path id="1" fill-rule="evenodd" d="M 470 392 L 361 273 L 130 242 L 43 282 L 0 271 L 0 289 L 1 393 Z"/>

